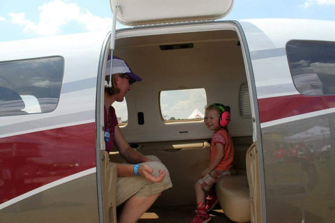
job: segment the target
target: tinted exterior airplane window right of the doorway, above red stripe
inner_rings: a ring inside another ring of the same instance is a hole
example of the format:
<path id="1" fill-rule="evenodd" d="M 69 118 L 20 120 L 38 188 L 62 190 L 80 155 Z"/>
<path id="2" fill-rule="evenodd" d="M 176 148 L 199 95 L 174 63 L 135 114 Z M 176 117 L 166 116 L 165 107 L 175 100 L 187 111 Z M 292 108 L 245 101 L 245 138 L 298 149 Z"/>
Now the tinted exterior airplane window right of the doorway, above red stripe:
<path id="1" fill-rule="evenodd" d="M 293 82 L 301 94 L 335 94 L 334 42 L 292 40 L 286 52 Z"/>

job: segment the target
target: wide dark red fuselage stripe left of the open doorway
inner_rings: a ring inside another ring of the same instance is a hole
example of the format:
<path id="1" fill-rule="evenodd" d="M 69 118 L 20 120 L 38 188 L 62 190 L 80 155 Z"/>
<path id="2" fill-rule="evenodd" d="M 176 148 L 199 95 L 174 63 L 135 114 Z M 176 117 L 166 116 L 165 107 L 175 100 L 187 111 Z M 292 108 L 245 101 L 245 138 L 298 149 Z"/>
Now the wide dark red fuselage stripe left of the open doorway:
<path id="1" fill-rule="evenodd" d="M 93 167 L 94 123 L 0 139 L 0 203 Z"/>

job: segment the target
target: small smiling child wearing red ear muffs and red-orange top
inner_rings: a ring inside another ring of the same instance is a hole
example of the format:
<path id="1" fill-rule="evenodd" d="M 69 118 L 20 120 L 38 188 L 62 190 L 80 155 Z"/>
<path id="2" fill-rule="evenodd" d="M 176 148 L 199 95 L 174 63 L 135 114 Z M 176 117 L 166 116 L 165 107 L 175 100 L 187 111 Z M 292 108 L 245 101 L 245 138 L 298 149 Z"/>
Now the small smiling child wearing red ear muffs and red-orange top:
<path id="1" fill-rule="evenodd" d="M 214 208 L 216 198 L 214 183 L 224 176 L 234 174 L 232 160 L 234 159 L 234 147 L 232 137 L 228 133 L 227 125 L 230 122 L 228 109 L 218 103 L 209 105 L 205 110 L 204 123 L 209 130 L 214 131 L 211 139 L 211 160 L 209 166 L 202 171 L 201 178 L 195 183 L 195 195 L 197 199 L 197 214 L 191 223 L 209 222 L 209 210 Z M 208 197 L 205 203 L 205 192 Z"/>

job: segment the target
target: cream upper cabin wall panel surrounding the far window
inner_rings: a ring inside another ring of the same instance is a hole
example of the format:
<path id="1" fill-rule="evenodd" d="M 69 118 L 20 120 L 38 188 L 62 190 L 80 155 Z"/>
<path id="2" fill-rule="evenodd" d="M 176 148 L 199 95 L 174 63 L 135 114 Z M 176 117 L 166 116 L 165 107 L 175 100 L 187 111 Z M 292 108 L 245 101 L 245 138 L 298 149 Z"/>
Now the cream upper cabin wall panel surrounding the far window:
<path id="1" fill-rule="evenodd" d="M 128 142 L 210 138 L 203 122 L 164 123 L 159 93 L 168 89 L 204 88 L 207 103 L 229 105 L 232 136 L 252 135 L 251 118 L 239 114 L 239 87 L 246 73 L 234 31 L 207 31 L 117 40 L 115 54 L 126 59 L 142 77 L 126 96 L 128 125 L 123 132 Z M 162 51 L 159 45 L 193 43 L 192 49 Z M 129 100 L 128 100 L 129 98 Z M 130 103 L 131 102 L 131 103 Z M 134 103 L 135 102 L 135 103 Z M 144 125 L 137 124 L 137 112 L 144 113 Z M 179 133 L 179 132 L 187 133 Z"/>

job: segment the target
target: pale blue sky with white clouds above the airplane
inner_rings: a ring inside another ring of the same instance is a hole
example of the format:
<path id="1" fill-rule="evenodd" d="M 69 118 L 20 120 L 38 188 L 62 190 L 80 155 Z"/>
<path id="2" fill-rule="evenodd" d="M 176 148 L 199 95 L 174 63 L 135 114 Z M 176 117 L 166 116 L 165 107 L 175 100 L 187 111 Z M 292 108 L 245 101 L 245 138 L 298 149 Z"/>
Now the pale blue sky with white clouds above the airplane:
<path id="1" fill-rule="evenodd" d="M 335 0 L 234 0 L 223 20 L 302 18 L 335 20 Z M 68 33 L 109 31 L 108 0 L 1 0 L 0 42 Z M 117 24 L 117 28 L 122 28 Z"/>

